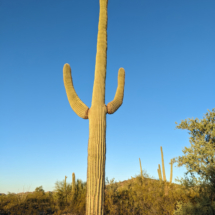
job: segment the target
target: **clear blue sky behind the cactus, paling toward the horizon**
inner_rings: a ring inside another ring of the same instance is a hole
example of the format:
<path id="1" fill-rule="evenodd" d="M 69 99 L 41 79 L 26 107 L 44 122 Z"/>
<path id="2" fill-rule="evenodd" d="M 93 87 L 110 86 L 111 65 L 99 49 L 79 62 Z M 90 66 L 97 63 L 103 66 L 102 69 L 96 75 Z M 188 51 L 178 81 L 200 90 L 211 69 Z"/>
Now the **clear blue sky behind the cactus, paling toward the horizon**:
<path id="1" fill-rule="evenodd" d="M 86 181 L 89 121 L 71 109 L 63 84 L 69 63 L 75 90 L 91 106 L 99 1 L 0 2 L 0 193 L 54 189 L 65 175 Z M 108 3 L 106 104 L 125 69 L 122 106 L 107 115 L 106 177 L 143 169 L 158 178 L 189 147 L 175 122 L 214 108 L 215 1 Z M 175 167 L 173 178 L 184 177 Z"/>

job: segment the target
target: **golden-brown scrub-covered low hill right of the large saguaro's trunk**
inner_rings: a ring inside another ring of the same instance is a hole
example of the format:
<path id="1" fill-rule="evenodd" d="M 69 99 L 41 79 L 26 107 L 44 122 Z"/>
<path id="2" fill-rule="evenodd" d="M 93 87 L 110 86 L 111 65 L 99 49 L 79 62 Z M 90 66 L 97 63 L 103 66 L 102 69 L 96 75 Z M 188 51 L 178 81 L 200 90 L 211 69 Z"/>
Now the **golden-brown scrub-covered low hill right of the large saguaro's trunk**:
<path id="1" fill-rule="evenodd" d="M 193 190 L 169 182 L 137 176 L 127 183 L 111 180 L 105 189 L 105 214 L 173 214 L 177 202 L 197 196 Z"/>

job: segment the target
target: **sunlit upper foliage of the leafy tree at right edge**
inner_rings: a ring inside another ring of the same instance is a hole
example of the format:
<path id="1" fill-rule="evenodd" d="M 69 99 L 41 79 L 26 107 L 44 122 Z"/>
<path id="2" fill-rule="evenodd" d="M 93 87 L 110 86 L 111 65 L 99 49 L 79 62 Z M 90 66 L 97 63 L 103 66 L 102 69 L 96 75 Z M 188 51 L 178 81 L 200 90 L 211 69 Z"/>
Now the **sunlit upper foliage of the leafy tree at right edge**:
<path id="1" fill-rule="evenodd" d="M 197 173 L 209 180 L 209 172 L 215 168 L 215 109 L 208 110 L 202 120 L 182 120 L 176 128 L 189 131 L 191 147 L 185 147 L 182 150 L 185 155 L 174 158 L 174 162 L 178 162 L 178 167 L 185 165 L 188 170 L 186 174 L 193 176 Z"/>

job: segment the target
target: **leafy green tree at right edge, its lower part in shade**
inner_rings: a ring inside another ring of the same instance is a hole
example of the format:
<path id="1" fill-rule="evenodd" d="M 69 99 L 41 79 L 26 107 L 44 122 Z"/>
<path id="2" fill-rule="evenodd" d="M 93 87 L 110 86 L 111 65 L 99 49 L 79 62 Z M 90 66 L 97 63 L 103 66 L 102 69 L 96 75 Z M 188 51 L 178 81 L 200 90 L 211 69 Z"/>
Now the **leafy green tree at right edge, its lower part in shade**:
<path id="1" fill-rule="evenodd" d="M 177 124 L 177 123 L 176 123 Z M 185 147 L 184 156 L 173 159 L 178 163 L 178 167 L 185 165 L 187 172 L 192 179 L 177 180 L 188 187 L 199 185 L 203 198 L 211 201 L 215 198 L 215 109 L 208 110 L 203 119 L 182 120 L 176 126 L 177 129 L 186 129 L 190 134 L 191 147 Z M 196 173 L 200 179 L 194 176 Z"/>

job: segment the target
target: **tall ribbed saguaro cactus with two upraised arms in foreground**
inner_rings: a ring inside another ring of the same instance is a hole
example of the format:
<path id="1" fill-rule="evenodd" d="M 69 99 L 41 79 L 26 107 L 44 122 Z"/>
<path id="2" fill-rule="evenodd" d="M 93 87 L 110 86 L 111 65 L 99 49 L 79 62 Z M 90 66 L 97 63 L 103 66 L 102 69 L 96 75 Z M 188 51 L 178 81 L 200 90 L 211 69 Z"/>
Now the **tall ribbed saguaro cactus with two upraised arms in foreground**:
<path id="1" fill-rule="evenodd" d="M 104 212 L 104 185 L 106 160 L 106 114 L 113 114 L 122 105 L 125 71 L 118 72 L 118 87 L 114 100 L 105 105 L 105 79 L 107 59 L 107 4 L 99 0 L 99 25 L 93 95 L 88 108 L 78 97 L 73 87 L 71 68 L 65 64 L 63 79 L 66 94 L 73 111 L 83 119 L 89 119 L 88 166 L 87 166 L 87 215 L 102 215 Z"/>

